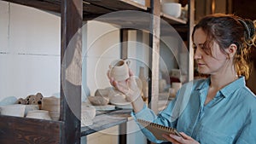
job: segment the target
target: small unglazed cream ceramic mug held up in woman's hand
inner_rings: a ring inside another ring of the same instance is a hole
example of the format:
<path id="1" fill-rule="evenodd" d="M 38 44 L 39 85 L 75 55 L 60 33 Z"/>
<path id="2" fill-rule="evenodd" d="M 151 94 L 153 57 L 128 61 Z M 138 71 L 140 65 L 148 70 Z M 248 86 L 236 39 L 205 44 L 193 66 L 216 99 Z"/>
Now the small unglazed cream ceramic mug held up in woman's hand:
<path id="1" fill-rule="evenodd" d="M 113 60 L 109 66 L 109 76 L 116 81 L 125 81 L 129 78 L 130 60 Z"/>

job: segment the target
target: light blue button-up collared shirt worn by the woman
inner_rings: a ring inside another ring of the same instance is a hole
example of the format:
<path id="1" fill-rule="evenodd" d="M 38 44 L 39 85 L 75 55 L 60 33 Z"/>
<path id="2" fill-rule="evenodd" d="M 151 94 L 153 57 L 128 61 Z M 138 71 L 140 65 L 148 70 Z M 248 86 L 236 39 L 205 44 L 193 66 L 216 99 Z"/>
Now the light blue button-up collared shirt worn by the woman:
<path id="1" fill-rule="evenodd" d="M 245 78 L 220 89 L 212 101 L 204 105 L 210 78 L 184 84 L 158 116 L 148 107 L 131 115 L 176 128 L 201 144 L 256 144 L 256 97 L 245 85 Z M 142 128 L 150 141 L 160 143 Z"/>

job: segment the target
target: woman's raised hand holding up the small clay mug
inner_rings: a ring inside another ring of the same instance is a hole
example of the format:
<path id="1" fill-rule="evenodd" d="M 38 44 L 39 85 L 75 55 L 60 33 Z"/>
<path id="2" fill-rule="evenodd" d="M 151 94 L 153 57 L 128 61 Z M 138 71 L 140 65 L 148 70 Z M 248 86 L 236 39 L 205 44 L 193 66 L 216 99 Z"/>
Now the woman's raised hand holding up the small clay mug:
<path id="1" fill-rule="evenodd" d="M 141 97 L 142 88 L 137 85 L 136 77 L 134 76 L 133 72 L 131 72 L 131 69 L 129 69 L 129 75 L 130 77 L 125 81 L 115 81 L 109 76 L 108 71 L 110 84 L 122 92 L 126 96 L 127 101 L 133 102 L 136 101 L 138 97 Z"/>

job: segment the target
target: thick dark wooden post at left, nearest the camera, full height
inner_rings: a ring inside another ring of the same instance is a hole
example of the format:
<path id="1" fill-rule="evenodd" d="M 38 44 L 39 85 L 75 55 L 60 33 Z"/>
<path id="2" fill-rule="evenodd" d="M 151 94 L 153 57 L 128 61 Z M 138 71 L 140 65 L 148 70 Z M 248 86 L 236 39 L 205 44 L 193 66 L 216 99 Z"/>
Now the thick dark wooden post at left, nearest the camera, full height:
<path id="1" fill-rule="evenodd" d="M 61 121 L 67 144 L 80 143 L 82 0 L 61 0 Z"/>

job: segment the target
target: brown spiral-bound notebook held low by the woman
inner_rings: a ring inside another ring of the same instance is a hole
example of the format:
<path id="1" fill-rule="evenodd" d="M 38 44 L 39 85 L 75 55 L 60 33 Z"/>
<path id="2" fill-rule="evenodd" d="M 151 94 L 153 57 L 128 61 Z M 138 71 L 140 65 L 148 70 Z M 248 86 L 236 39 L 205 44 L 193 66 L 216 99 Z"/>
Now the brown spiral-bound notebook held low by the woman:
<path id="1" fill-rule="evenodd" d="M 183 137 L 183 135 L 180 135 L 176 129 L 171 127 L 166 127 L 164 125 L 151 123 L 139 118 L 137 118 L 137 122 L 139 124 L 142 124 L 143 127 L 145 127 L 147 130 L 149 130 L 157 140 L 166 141 L 166 139 L 162 136 L 163 134 L 173 134 L 173 135 Z"/>

